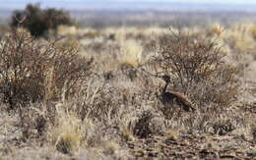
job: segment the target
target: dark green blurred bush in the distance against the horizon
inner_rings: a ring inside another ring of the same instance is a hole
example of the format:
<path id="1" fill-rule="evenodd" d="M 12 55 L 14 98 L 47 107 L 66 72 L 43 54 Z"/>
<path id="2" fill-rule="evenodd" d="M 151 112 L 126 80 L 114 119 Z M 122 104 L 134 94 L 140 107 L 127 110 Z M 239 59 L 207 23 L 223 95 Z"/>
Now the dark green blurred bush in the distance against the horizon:
<path id="1" fill-rule="evenodd" d="M 29 4 L 25 10 L 15 11 L 11 27 L 25 27 L 33 36 L 42 36 L 47 30 L 55 30 L 59 25 L 72 25 L 68 13 L 54 8 L 41 9 L 38 4 Z"/>

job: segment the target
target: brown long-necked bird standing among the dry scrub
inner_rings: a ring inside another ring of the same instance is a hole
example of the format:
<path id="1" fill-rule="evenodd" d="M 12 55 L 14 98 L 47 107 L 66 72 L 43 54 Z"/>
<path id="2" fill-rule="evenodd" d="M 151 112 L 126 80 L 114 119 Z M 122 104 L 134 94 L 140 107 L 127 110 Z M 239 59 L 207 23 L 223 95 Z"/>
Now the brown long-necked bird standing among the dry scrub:
<path id="1" fill-rule="evenodd" d="M 187 98 L 186 95 L 177 92 L 177 91 L 166 91 L 168 84 L 170 83 L 170 77 L 163 75 L 160 77 L 161 80 L 165 81 L 165 85 L 160 92 L 160 101 L 164 107 L 174 107 L 179 106 L 186 112 L 195 111 L 195 108 L 192 107 L 192 102 Z"/>

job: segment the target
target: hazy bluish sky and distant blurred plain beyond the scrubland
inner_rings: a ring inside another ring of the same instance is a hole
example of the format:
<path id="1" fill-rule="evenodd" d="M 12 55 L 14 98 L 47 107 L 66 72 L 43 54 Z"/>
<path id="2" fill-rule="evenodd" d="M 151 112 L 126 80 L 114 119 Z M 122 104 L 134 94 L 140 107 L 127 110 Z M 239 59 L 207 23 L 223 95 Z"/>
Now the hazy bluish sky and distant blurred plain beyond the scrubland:
<path id="1" fill-rule="evenodd" d="M 10 22 L 14 10 L 29 3 L 41 8 L 68 11 L 83 27 L 224 26 L 241 21 L 255 22 L 253 0 L 0 0 L 0 23 Z"/>

